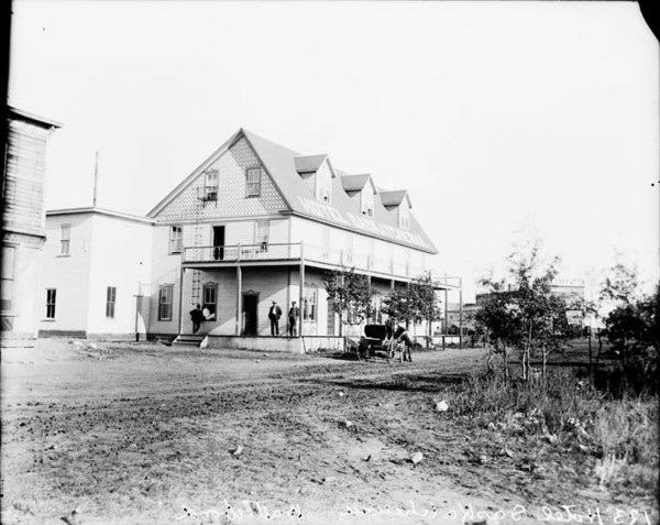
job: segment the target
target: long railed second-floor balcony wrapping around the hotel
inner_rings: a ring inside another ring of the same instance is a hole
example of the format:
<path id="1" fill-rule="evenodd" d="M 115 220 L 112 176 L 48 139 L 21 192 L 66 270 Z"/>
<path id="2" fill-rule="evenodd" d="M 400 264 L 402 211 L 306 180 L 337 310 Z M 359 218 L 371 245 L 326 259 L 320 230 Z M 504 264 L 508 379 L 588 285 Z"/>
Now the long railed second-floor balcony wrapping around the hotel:
<path id="1" fill-rule="evenodd" d="M 183 253 L 183 262 L 187 266 L 305 262 L 317 263 L 324 267 L 355 267 L 356 271 L 361 272 L 407 278 L 415 278 L 431 270 L 419 263 L 413 264 L 405 258 L 403 260 L 395 258 L 380 259 L 373 254 L 356 254 L 353 250 L 337 250 L 302 242 L 186 247 Z"/>

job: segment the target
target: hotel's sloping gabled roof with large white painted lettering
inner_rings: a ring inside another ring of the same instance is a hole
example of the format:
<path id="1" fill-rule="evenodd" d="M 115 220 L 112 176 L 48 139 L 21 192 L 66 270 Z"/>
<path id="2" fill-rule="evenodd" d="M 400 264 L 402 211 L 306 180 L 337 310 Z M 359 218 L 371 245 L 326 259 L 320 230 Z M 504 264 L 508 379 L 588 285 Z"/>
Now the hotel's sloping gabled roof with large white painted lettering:
<path id="1" fill-rule="evenodd" d="M 298 173 L 299 163 L 301 161 L 298 161 L 298 165 L 296 161 L 297 158 L 311 158 L 320 155 L 301 155 L 294 150 L 271 142 L 267 139 L 244 129 L 239 130 L 238 133 L 232 135 L 219 150 L 200 164 L 200 166 L 182 182 L 182 184 L 156 205 L 148 212 L 148 216 L 156 217 L 176 198 L 176 196 L 178 196 L 178 194 L 180 194 L 188 185 L 193 184 L 208 166 L 212 165 L 233 144 L 243 138 L 246 140 L 248 144 L 261 162 L 264 171 L 271 177 L 282 196 L 287 207 L 286 209 L 283 209 L 282 212 L 306 217 L 339 228 L 345 228 L 367 236 L 377 237 L 386 241 L 417 248 L 429 253 L 437 253 L 436 247 L 414 217 L 410 217 L 408 230 L 399 228 L 397 221 L 392 217 L 392 214 L 387 211 L 380 199 L 374 199 L 373 218 L 367 218 L 362 215 L 359 204 L 351 199 L 346 194 L 343 182 L 344 179 L 355 181 L 355 184 L 358 184 L 359 179 L 363 179 L 363 183 L 360 186 L 360 188 L 363 188 L 369 181 L 375 192 L 376 188 L 371 175 L 346 175 L 339 169 L 332 169 L 331 166 L 332 172 L 337 174 L 337 177 L 331 179 L 331 203 L 321 203 L 316 198 L 312 189 Z M 327 158 L 327 156 L 328 155 L 324 155 L 323 157 Z M 319 166 L 321 163 L 319 163 Z M 306 166 L 312 165 L 311 161 L 302 161 L 302 164 Z"/>

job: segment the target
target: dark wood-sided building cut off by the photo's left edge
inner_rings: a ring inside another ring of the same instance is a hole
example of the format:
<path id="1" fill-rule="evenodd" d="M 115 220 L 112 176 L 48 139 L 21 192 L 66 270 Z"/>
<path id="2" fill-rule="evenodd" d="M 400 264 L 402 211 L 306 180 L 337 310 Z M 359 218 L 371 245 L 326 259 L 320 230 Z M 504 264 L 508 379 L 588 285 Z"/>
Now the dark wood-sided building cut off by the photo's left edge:
<path id="1" fill-rule="evenodd" d="M 2 174 L 2 347 L 31 347 L 44 314 L 38 289 L 44 231 L 46 145 L 62 124 L 9 108 Z"/>

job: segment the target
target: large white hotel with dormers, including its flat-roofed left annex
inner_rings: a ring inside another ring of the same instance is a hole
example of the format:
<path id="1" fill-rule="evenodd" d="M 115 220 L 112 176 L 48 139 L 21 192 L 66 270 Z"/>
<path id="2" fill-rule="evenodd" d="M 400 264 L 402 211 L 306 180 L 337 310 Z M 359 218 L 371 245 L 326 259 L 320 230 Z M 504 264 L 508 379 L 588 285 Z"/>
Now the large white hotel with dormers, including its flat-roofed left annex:
<path id="1" fill-rule="evenodd" d="M 250 338 L 270 336 L 274 300 L 286 336 L 296 302 L 295 332 L 305 341 L 254 343 L 330 348 L 340 326 L 326 272 L 353 267 L 385 295 L 433 269 L 437 250 L 410 208 L 406 190 L 345 174 L 328 154 L 302 155 L 240 130 L 147 217 L 48 212 L 42 286 L 52 300 L 40 327 L 44 335 L 189 337 L 189 311 L 200 305 L 199 335 L 209 346 L 249 348 Z M 371 320 L 383 321 L 378 303 Z"/>

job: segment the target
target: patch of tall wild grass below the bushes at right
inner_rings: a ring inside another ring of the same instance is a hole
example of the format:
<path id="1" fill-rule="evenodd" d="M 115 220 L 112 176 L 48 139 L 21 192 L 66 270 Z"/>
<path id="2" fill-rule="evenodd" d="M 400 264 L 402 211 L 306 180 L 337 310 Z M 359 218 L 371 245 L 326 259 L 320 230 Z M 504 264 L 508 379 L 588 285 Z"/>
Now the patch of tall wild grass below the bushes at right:
<path id="1" fill-rule="evenodd" d="M 571 370 L 549 371 L 538 383 L 471 376 L 447 395 L 451 411 L 472 425 L 528 445 L 543 438 L 558 450 L 584 457 L 601 486 L 658 493 L 656 396 L 613 398 Z"/>

